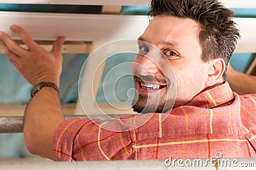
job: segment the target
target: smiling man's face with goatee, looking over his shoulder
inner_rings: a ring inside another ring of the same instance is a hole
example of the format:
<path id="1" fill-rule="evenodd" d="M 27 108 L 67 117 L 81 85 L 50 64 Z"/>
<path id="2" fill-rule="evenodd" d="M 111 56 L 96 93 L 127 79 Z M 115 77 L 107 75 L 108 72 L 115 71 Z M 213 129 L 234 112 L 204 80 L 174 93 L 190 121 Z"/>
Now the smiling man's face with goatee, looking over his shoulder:
<path id="1" fill-rule="evenodd" d="M 188 18 L 157 16 L 148 25 L 140 40 L 156 46 L 166 56 L 173 68 L 177 85 L 174 107 L 188 103 L 196 94 L 205 89 L 207 63 L 201 59 L 202 49 L 198 41 L 200 25 Z M 140 45 L 140 52 L 134 60 L 134 87 L 137 90 L 132 106 L 134 111 L 162 113 L 171 109 L 172 95 L 175 89 L 168 85 L 172 74 L 164 74 L 163 65 L 157 55 L 150 53 Z M 156 62 L 155 62 L 156 61 Z M 157 106 L 156 106 L 157 105 Z"/>

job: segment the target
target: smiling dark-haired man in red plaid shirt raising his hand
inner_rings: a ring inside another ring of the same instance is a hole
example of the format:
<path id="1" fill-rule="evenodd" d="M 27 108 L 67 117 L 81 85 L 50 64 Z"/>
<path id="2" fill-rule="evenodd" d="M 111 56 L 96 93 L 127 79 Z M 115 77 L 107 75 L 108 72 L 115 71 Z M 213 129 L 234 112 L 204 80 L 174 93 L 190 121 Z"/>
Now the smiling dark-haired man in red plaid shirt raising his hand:
<path id="1" fill-rule="evenodd" d="M 215 0 L 153 0 L 149 15 L 154 17 L 140 40 L 156 46 L 173 67 L 177 83 L 174 108 L 168 106 L 168 80 L 152 60 L 138 55 L 134 63 L 134 86 L 138 99 L 134 110 L 159 101 L 157 113 L 140 127 L 147 114 L 127 121 L 89 119 L 65 120 L 58 89 L 61 74 L 61 45 L 54 42 L 45 52 L 17 25 L 12 31 L 28 46 L 25 50 L 1 32 L 1 43 L 10 62 L 36 86 L 24 116 L 24 137 L 29 152 L 52 160 L 193 159 L 255 157 L 256 94 L 238 96 L 226 81 L 226 67 L 239 32 L 233 13 Z M 141 48 L 145 54 L 150 49 Z M 154 56 L 152 57 L 154 58 Z M 39 61 L 39 62 L 38 62 Z M 156 82 L 150 82 L 152 77 Z M 144 77 L 147 81 L 141 80 Z M 144 84 L 143 84 L 144 83 Z M 156 89 L 150 88 L 156 85 Z M 154 94 L 159 94 L 155 99 Z M 149 99 L 149 101 L 148 101 Z M 147 112 L 150 112 L 148 108 Z M 162 113 L 164 112 L 164 113 Z M 164 121 L 162 116 L 170 113 Z M 130 131 L 113 132 L 116 126 Z M 53 141 L 53 143 L 52 143 Z"/>

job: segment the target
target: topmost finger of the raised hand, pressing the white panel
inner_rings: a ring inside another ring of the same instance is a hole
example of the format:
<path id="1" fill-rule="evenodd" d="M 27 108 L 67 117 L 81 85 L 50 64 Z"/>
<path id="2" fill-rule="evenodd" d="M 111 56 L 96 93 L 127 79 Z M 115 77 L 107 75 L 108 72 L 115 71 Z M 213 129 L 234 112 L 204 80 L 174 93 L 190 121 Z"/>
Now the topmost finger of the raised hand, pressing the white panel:
<path id="1" fill-rule="evenodd" d="M 19 25 L 12 25 L 12 31 L 20 36 L 22 42 L 28 46 L 29 50 L 36 50 L 39 45 L 29 36 L 29 34 L 22 29 Z"/>

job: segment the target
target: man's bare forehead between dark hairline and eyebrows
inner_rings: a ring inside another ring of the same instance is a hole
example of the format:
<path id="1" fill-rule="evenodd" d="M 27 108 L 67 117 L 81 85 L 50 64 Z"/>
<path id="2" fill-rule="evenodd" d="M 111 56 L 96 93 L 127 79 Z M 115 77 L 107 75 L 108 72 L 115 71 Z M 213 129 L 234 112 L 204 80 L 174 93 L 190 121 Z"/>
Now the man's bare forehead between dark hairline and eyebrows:
<path id="1" fill-rule="evenodd" d="M 141 35 L 141 39 L 157 45 L 161 42 L 198 43 L 200 24 L 190 18 L 156 16 Z"/>

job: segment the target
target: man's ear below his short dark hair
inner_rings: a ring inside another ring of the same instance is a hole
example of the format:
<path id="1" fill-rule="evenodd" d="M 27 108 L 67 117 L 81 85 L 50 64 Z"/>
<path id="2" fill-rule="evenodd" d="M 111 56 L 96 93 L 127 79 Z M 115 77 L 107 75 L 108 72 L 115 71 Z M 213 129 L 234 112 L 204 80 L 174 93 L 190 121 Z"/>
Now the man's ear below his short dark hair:
<path id="1" fill-rule="evenodd" d="M 222 74 L 225 71 L 225 61 L 221 58 L 214 59 L 209 64 L 208 75 L 205 80 L 205 85 L 211 87 L 222 80 Z"/>

